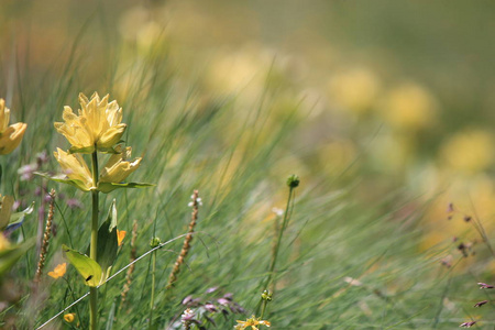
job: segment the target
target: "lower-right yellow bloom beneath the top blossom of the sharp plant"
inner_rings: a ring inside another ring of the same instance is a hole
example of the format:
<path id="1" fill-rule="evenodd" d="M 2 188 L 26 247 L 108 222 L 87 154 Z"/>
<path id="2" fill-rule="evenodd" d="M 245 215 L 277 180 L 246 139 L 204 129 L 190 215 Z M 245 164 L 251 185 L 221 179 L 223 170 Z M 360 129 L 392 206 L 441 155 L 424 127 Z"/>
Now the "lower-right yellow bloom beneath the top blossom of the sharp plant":
<path id="1" fill-rule="evenodd" d="M 135 158 L 132 162 L 128 160 L 131 157 L 132 148 L 130 146 L 122 151 L 119 145 L 116 148 L 119 154 L 113 154 L 109 160 L 105 168 L 101 170 L 100 182 L 101 183 L 122 183 L 131 173 L 133 173 L 138 167 L 140 167 L 141 157 Z"/>

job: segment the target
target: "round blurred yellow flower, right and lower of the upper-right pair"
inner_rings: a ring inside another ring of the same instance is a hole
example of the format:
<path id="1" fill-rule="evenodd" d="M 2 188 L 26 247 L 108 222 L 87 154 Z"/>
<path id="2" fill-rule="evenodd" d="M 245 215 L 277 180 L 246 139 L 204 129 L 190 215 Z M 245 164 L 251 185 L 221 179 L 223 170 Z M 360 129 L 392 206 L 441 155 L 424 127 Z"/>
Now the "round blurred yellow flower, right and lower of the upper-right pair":
<path id="1" fill-rule="evenodd" d="M 437 101 L 428 90 L 409 82 L 392 89 L 380 108 L 392 127 L 418 130 L 435 122 Z"/>

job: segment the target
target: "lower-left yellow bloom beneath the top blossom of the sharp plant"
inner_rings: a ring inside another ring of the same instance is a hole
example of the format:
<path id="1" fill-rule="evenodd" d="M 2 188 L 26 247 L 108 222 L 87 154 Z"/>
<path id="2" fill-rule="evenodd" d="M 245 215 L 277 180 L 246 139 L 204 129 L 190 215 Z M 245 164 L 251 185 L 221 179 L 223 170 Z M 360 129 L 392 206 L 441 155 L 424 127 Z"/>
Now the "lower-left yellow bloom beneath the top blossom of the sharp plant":
<path id="1" fill-rule="evenodd" d="M 91 172 L 81 155 L 68 154 L 59 147 L 54 152 L 54 155 L 58 164 L 61 164 L 64 174 L 68 179 L 73 180 L 75 186 L 84 191 L 95 188 Z"/>

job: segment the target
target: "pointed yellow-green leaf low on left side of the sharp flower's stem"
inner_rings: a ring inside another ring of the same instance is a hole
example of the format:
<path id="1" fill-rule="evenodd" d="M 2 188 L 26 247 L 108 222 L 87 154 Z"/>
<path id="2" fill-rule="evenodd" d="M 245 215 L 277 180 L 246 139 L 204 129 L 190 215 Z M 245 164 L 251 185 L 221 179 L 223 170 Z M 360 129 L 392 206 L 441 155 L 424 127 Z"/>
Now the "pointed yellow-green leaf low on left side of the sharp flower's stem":
<path id="1" fill-rule="evenodd" d="M 77 272 L 82 276 L 87 286 L 96 287 L 103 283 L 103 272 L 96 261 L 65 244 L 62 245 L 62 249 L 70 264 L 73 264 Z"/>

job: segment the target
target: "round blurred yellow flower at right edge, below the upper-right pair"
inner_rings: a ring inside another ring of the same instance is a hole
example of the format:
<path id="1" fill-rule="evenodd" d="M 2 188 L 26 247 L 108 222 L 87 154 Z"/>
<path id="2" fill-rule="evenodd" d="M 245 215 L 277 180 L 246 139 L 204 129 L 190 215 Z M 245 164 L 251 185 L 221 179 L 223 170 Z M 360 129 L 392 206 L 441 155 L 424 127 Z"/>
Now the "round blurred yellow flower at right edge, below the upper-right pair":
<path id="1" fill-rule="evenodd" d="M 450 168 L 477 173 L 494 162 L 494 139 L 482 130 L 466 130 L 451 136 L 440 150 L 440 157 Z"/>

